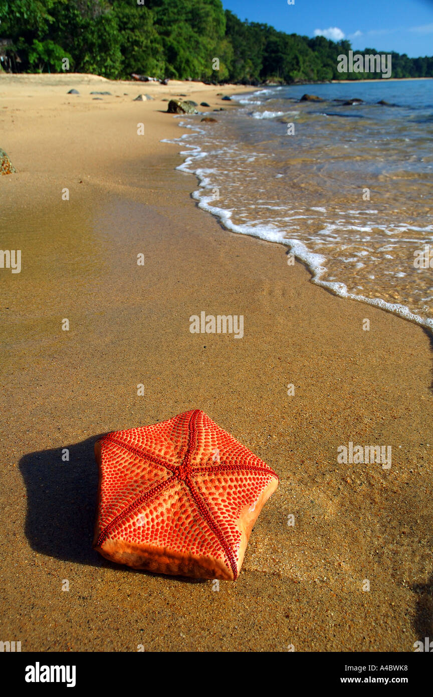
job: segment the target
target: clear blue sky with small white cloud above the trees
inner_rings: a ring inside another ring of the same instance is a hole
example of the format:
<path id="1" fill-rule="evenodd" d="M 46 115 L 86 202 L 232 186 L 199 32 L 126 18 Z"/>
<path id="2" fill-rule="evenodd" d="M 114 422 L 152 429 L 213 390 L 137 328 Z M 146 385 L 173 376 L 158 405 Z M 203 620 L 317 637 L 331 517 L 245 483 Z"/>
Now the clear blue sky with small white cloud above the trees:
<path id="1" fill-rule="evenodd" d="M 347 38 L 354 49 L 433 55 L 433 0 L 222 0 L 241 20 L 303 36 Z M 344 36 L 343 36 L 344 35 Z"/>

